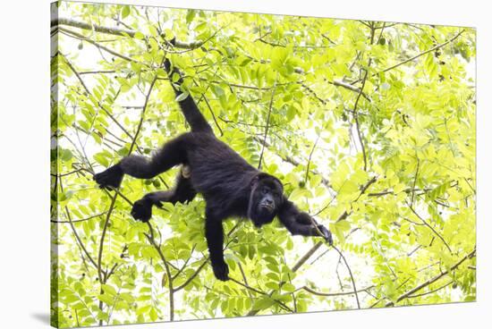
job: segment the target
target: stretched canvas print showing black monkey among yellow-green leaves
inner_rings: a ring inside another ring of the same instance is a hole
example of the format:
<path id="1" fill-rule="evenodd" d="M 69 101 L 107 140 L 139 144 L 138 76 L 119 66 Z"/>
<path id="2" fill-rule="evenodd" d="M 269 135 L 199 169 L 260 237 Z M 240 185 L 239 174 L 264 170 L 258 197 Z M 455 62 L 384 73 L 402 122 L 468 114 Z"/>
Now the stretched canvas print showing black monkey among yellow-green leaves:
<path id="1" fill-rule="evenodd" d="M 52 325 L 476 299 L 474 29 L 65 1 L 51 11 Z M 201 153 L 182 142 L 167 164 L 159 148 L 178 136 Z M 249 165 L 232 171 L 238 155 Z M 209 177 L 220 179 L 203 190 Z M 259 190 L 261 177 L 283 192 Z M 182 188 L 193 193 L 170 197 Z M 272 223 L 247 218 L 257 206 Z M 213 222 L 226 207 L 246 215 Z"/>

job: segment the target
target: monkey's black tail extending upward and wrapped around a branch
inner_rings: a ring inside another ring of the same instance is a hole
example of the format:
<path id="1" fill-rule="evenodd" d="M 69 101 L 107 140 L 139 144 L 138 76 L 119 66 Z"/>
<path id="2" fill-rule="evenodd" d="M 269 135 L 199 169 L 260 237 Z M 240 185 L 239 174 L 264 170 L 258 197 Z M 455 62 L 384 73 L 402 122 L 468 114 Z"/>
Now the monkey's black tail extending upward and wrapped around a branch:
<path id="1" fill-rule="evenodd" d="M 181 72 L 175 66 L 173 66 L 173 64 L 171 64 L 171 62 L 167 58 L 165 58 L 164 67 L 165 72 L 167 72 L 167 75 L 169 76 L 171 86 L 173 86 L 176 97 L 180 97 L 182 95 L 182 91 L 180 89 L 177 89 L 176 85 L 182 86 Z M 174 73 L 178 74 L 179 79 L 173 83 Z M 181 107 L 182 114 L 184 115 L 186 122 L 190 124 L 191 131 L 208 132 L 211 134 L 214 133 L 214 131 L 212 131 L 212 127 L 210 127 L 203 114 L 199 112 L 199 108 L 191 95 L 188 95 L 184 99 L 178 100 L 178 103 Z"/>

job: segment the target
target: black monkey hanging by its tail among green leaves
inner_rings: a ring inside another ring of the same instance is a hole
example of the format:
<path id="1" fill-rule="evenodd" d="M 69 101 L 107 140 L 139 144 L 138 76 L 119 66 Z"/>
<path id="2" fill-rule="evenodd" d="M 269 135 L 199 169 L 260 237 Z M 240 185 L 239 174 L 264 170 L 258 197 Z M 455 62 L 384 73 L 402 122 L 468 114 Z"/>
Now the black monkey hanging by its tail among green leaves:
<path id="1" fill-rule="evenodd" d="M 170 77 L 178 74 L 177 84 L 182 85 L 181 73 L 167 59 L 165 70 Z M 181 94 L 174 84 L 173 88 L 176 95 Z M 232 148 L 216 139 L 191 95 L 179 104 L 191 132 L 171 139 L 151 158 L 125 156 L 118 164 L 94 176 L 101 188 L 118 188 L 125 173 L 149 179 L 175 165 L 182 165 L 173 190 L 148 193 L 135 202 L 131 209 L 135 219 L 148 222 L 152 206 L 159 207 L 161 202 L 184 203 L 201 193 L 207 203 L 205 236 L 210 261 L 216 278 L 222 281 L 228 280 L 229 273 L 224 260 L 222 227 L 222 221 L 228 217 L 247 217 L 256 227 L 261 227 L 277 216 L 292 234 L 321 235 L 330 244 L 333 242 L 325 226 L 317 224 L 284 196 L 281 181 L 259 172 Z"/>

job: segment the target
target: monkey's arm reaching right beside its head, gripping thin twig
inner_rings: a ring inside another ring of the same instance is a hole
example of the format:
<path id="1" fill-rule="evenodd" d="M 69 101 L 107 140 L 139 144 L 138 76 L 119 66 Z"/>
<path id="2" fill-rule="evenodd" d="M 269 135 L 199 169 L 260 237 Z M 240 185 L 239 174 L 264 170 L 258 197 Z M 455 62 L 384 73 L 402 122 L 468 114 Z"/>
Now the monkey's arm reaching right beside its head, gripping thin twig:
<path id="1" fill-rule="evenodd" d="M 333 239 L 331 232 L 322 224 L 318 224 L 309 214 L 301 212 L 293 202 L 287 198 L 278 210 L 278 219 L 293 235 L 321 236 L 331 245 Z"/>

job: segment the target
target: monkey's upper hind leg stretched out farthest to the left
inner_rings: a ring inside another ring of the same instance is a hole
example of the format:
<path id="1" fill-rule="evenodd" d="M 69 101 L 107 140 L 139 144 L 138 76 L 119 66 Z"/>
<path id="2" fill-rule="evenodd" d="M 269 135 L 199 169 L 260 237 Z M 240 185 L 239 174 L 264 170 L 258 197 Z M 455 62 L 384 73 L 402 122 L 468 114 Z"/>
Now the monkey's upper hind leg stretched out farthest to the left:
<path id="1" fill-rule="evenodd" d="M 165 143 L 157 154 L 147 158 L 144 156 L 125 156 L 118 164 L 113 165 L 102 173 L 94 175 L 101 188 L 118 188 L 123 180 L 123 174 L 135 178 L 148 179 L 164 173 L 174 165 L 186 161 L 186 146 L 190 134 L 183 134 Z"/>

